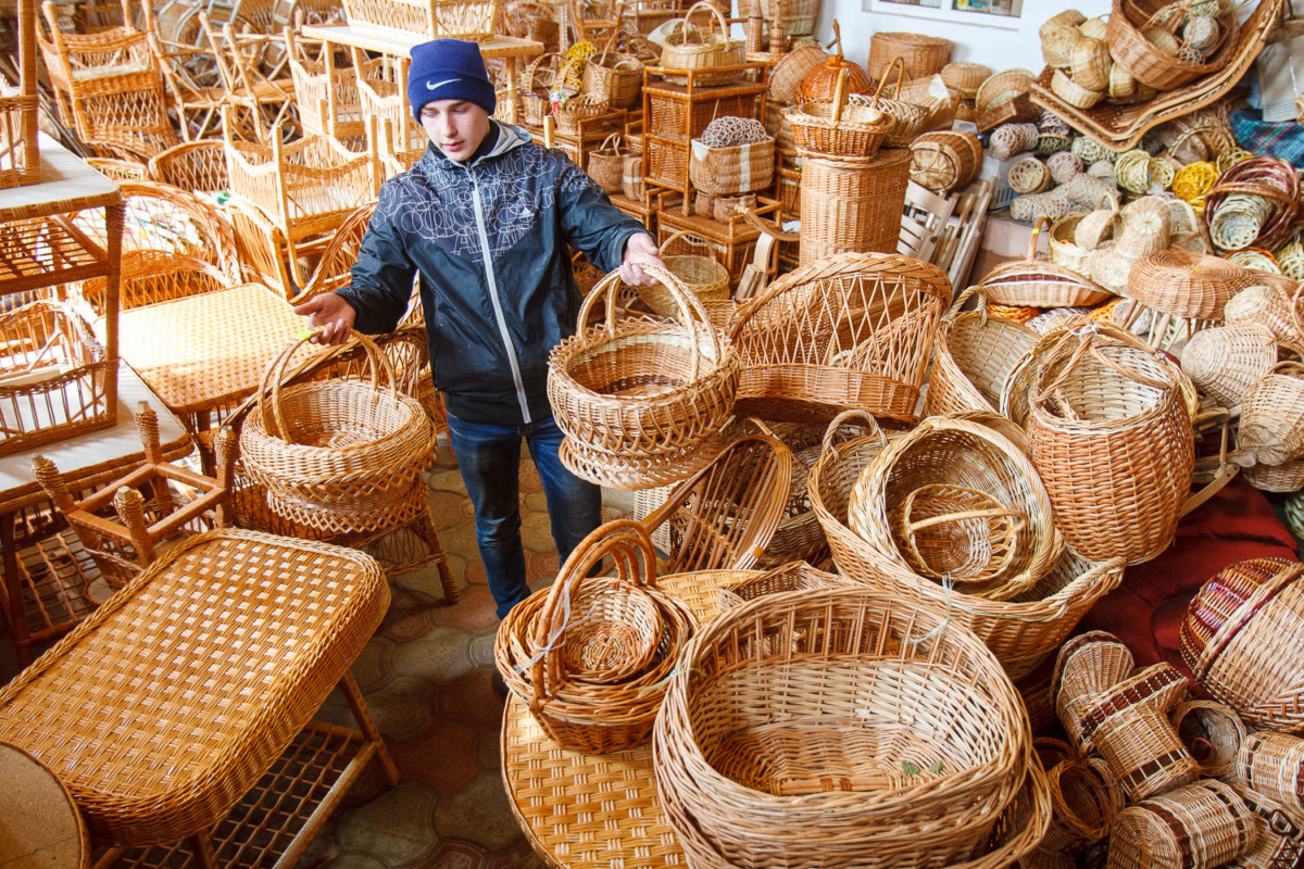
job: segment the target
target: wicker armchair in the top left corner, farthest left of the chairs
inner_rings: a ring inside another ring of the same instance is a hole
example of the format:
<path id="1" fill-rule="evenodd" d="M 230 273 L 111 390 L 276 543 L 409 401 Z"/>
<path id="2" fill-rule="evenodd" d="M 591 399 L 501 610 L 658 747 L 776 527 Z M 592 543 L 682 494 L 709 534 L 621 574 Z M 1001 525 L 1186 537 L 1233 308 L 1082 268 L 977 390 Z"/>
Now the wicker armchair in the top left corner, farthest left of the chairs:
<path id="1" fill-rule="evenodd" d="M 130 23 L 128 0 L 123 0 L 128 23 L 93 34 L 60 30 L 59 10 L 50 0 L 42 10 L 47 26 L 37 29 L 38 42 L 64 125 L 87 145 L 143 159 L 176 145 L 149 31 Z"/>

